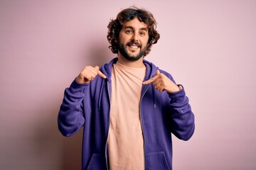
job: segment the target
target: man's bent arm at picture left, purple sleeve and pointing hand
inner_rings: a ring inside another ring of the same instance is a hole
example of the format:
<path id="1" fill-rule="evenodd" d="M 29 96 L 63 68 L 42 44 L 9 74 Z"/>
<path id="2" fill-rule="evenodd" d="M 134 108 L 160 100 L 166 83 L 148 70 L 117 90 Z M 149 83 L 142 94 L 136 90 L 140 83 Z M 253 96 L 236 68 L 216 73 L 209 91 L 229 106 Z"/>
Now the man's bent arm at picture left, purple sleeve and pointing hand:
<path id="1" fill-rule="evenodd" d="M 82 109 L 82 101 L 85 98 L 84 91 L 89 88 L 90 81 L 99 75 L 106 78 L 99 67 L 87 66 L 76 77 L 69 88 L 65 89 L 63 103 L 58 113 L 58 128 L 64 136 L 71 136 L 78 132 L 85 123 Z"/>

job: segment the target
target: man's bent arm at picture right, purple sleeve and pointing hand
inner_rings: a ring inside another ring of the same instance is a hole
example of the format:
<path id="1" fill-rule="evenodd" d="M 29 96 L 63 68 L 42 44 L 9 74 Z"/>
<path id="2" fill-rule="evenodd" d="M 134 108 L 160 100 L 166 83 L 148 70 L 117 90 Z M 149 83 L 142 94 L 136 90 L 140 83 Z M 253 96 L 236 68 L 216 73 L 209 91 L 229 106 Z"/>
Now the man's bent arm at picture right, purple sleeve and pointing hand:
<path id="1" fill-rule="evenodd" d="M 153 84 L 158 91 L 166 91 L 171 99 L 171 131 L 181 140 L 189 140 L 195 130 L 195 118 L 188 103 L 183 86 L 176 85 L 165 74 L 156 70 L 156 76 L 143 84 Z"/>

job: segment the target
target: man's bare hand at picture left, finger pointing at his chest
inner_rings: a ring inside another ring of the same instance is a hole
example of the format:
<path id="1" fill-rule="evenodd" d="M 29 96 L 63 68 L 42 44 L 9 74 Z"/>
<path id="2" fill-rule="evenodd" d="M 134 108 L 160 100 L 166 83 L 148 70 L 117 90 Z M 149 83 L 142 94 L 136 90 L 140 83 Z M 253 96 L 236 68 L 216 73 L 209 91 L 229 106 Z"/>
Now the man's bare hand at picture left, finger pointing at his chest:
<path id="1" fill-rule="evenodd" d="M 107 77 L 105 74 L 100 72 L 100 69 L 98 66 L 92 67 L 92 66 L 86 66 L 84 69 L 82 69 L 82 72 L 78 75 L 76 78 L 76 81 L 80 84 L 88 84 L 90 81 L 95 79 L 95 77 L 99 75 L 103 79 L 106 79 Z"/>

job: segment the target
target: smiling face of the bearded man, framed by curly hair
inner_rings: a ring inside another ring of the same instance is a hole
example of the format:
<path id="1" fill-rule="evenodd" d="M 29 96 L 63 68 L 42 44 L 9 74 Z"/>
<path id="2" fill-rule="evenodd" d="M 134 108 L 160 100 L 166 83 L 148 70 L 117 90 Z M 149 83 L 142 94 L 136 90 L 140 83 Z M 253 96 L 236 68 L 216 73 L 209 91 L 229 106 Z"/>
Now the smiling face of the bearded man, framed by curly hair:
<path id="1" fill-rule="evenodd" d="M 124 23 L 119 33 L 118 53 L 126 60 L 139 60 L 146 50 L 149 33 L 147 25 L 134 18 Z"/>

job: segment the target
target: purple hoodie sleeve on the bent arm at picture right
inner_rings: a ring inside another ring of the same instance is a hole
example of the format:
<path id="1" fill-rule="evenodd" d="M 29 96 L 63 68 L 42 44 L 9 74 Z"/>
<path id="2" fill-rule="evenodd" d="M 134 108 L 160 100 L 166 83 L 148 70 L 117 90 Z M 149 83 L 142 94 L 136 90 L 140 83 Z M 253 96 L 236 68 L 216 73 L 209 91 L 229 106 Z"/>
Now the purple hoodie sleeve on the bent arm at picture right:
<path id="1" fill-rule="evenodd" d="M 180 140 L 189 140 L 195 130 L 195 118 L 183 86 L 180 91 L 169 94 L 169 97 L 171 98 L 172 133 Z"/>

